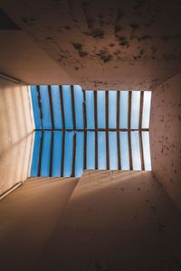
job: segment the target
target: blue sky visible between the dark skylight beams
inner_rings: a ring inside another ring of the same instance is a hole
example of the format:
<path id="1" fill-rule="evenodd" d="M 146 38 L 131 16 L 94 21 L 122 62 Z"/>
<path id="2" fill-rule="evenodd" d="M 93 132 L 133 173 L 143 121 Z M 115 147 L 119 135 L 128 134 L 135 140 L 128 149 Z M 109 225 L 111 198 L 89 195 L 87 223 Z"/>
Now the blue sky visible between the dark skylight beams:
<path id="1" fill-rule="evenodd" d="M 74 95 L 74 107 L 75 107 L 75 119 L 76 129 L 83 129 L 83 90 L 80 86 L 73 86 Z M 97 91 L 97 112 L 98 112 L 98 128 L 106 128 L 106 114 L 105 114 L 105 100 L 106 92 L 101 90 Z M 36 86 L 31 87 L 32 102 L 33 102 L 33 116 L 36 129 L 51 129 L 51 107 L 48 93 L 48 86 L 40 86 L 40 97 L 37 95 Z M 72 120 L 72 103 L 71 103 L 71 86 L 62 86 L 62 98 L 63 98 L 63 110 L 65 118 L 65 129 L 73 128 Z M 51 159 L 51 142 L 53 136 L 52 146 L 52 176 L 59 177 L 62 172 L 62 108 L 61 108 L 61 95 L 60 87 L 51 87 L 52 95 L 52 110 L 54 119 L 54 128 L 59 129 L 53 132 L 43 132 L 43 149 L 42 149 L 42 164 L 41 164 L 41 176 L 49 176 L 50 173 L 50 159 Z M 41 122 L 40 116 L 40 104 L 42 104 L 43 120 Z M 138 129 L 139 120 L 139 104 L 140 104 L 140 92 L 132 91 L 132 103 L 131 103 L 131 128 Z M 144 91 L 143 101 L 143 128 L 149 127 L 150 117 L 150 104 L 151 104 L 151 91 Z M 86 90 L 85 92 L 85 105 L 87 115 L 87 128 L 95 129 L 94 123 L 94 91 Z M 128 110 L 129 110 L 129 91 L 120 91 L 119 95 L 119 128 L 128 128 Z M 117 91 L 109 91 L 109 128 L 116 128 L 117 126 Z M 53 135 L 52 135 L 53 133 Z M 64 159 L 63 159 L 63 176 L 70 177 L 72 170 L 72 152 L 73 152 L 73 135 L 76 134 L 76 149 L 75 149 L 75 176 L 81 176 L 83 172 L 83 152 L 84 152 L 84 139 L 86 138 L 86 168 L 95 169 L 95 131 L 87 131 L 86 137 L 83 131 L 66 131 L 64 134 Z M 39 154 L 41 145 L 41 131 L 36 131 L 34 136 L 33 147 L 33 160 L 31 176 L 37 176 Z M 99 131 L 98 135 L 98 169 L 106 169 L 106 132 Z M 149 133 L 142 132 L 143 141 L 143 154 L 145 159 L 146 170 L 151 170 L 150 161 L 150 146 L 149 146 Z M 109 137 L 109 149 L 110 149 L 110 169 L 118 169 L 118 144 L 117 144 L 117 132 L 110 131 Z M 138 131 L 132 131 L 131 137 L 131 150 L 133 170 L 141 169 L 140 162 L 140 146 L 139 146 L 139 134 Z M 121 169 L 129 170 L 129 141 L 128 132 L 119 132 L 120 142 L 120 161 Z"/>

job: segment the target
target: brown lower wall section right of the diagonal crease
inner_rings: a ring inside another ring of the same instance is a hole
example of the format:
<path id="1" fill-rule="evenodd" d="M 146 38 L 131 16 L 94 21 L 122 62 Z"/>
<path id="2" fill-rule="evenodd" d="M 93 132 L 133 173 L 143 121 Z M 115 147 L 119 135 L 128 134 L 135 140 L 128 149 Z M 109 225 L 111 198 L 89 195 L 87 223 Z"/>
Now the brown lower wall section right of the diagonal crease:
<path id="1" fill-rule="evenodd" d="M 34 270 L 177 271 L 180 227 L 152 173 L 85 171 Z"/>

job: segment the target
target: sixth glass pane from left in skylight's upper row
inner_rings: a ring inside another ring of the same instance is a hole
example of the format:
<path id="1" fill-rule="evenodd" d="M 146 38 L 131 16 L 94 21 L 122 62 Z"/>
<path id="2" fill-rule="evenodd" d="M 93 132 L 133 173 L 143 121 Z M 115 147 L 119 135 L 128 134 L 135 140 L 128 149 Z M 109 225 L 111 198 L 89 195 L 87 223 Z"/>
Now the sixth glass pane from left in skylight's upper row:
<path id="1" fill-rule="evenodd" d="M 94 129 L 94 97 L 92 90 L 86 90 L 86 114 L 88 129 Z"/>

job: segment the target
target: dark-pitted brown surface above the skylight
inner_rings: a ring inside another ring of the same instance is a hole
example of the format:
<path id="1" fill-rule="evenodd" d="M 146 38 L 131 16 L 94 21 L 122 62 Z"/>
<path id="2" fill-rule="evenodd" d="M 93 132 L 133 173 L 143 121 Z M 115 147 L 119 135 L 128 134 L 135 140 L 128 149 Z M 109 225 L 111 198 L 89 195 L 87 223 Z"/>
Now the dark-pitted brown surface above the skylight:
<path id="1" fill-rule="evenodd" d="M 180 0 L 1 2 L 83 89 L 154 89 L 181 70 Z M 52 69 L 50 74 L 61 83 Z M 47 76 L 43 82 L 52 83 Z"/>

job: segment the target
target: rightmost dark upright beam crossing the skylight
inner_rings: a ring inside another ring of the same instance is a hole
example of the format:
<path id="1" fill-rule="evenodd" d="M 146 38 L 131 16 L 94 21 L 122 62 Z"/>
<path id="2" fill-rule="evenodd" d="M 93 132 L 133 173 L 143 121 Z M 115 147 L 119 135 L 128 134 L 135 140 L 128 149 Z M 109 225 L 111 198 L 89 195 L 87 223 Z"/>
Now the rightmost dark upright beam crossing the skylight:
<path id="1" fill-rule="evenodd" d="M 145 170 L 145 161 L 144 161 L 144 154 L 143 154 L 143 140 L 142 140 L 142 118 L 143 118 L 143 100 L 144 100 L 144 91 L 140 92 L 140 104 L 139 104 L 139 132 L 138 132 L 138 137 L 139 137 L 139 149 L 140 149 L 140 158 L 141 158 L 141 170 Z"/>

